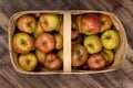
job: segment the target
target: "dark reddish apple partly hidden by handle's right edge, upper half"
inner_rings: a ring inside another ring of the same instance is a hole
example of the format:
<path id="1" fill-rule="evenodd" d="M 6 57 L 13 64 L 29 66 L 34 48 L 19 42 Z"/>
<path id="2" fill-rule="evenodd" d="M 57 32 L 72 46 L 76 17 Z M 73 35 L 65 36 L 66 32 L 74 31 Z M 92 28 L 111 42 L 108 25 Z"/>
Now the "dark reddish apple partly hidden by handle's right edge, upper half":
<path id="1" fill-rule="evenodd" d="M 71 28 L 71 38 L 74 40 L 79 36 L 79 31 L 78 31 L 78 26 L 75 24 L 75 22 L 72 22 L 72 28 Z"/>

